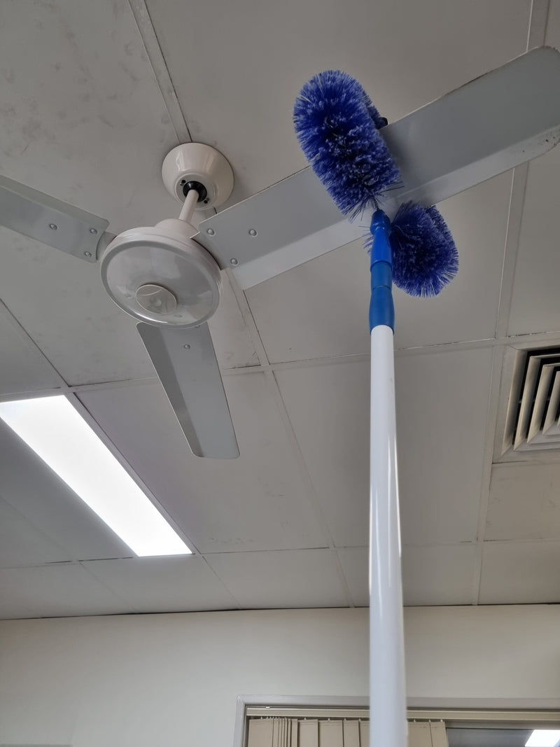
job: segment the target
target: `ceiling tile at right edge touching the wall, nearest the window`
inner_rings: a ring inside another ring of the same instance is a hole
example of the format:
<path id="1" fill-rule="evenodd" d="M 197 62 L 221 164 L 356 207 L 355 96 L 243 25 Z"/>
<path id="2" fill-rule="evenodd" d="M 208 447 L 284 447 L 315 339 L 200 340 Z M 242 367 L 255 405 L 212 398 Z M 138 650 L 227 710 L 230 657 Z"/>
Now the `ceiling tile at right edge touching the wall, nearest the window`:
<path id="1" fill-rule="evenodd" d="M 485 542 L 480 604 L 560 602 L 560 542 Z"/>

